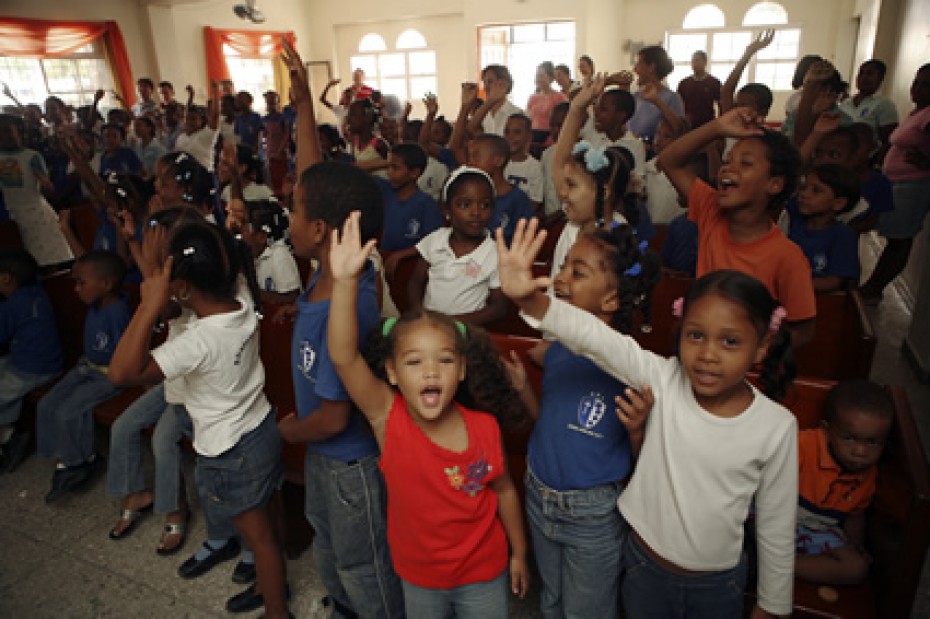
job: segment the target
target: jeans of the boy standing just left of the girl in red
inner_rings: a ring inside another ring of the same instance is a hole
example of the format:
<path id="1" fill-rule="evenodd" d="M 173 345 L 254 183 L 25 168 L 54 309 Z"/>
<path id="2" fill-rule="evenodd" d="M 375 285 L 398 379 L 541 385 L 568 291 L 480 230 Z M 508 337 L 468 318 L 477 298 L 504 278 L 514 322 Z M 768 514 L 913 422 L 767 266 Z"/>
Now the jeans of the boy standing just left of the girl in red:
<path id="1" fill-rule="evenodd" d="M 404 616 L 400 580 L 387 545 L 387 492 L 372 454 L 342 462 L 307 450 L 307 520 L 313 559 L 336 605 L 365 619 Z"/>

